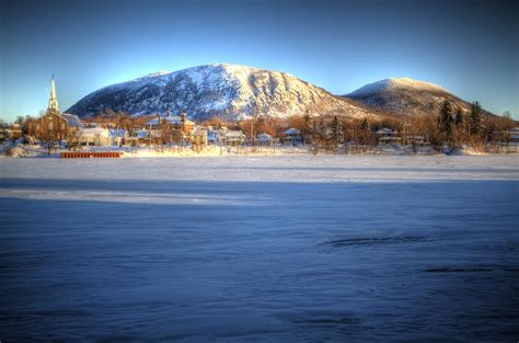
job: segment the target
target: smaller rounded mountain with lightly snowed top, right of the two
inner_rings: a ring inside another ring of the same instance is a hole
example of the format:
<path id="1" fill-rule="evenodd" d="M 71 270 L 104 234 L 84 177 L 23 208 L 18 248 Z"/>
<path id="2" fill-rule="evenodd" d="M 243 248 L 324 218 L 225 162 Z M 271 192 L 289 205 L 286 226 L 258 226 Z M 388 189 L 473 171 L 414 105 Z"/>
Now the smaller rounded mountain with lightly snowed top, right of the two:
<path id="1" fill-rule="evenodd" d="M 369 83 L 344 96 L 376 110 L 399 115 L 438 114 L 445 99 L 449 99 L 465 111 L 470 110 L 470 103 L 448 90 L 410 78 L 385 79 Z"/>

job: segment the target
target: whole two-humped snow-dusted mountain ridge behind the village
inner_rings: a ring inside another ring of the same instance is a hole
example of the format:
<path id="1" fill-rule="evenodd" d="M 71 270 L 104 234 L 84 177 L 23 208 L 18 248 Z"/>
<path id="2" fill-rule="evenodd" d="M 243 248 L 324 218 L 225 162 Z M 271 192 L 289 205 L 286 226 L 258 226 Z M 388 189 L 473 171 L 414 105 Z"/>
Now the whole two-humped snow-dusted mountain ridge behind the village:
<path id="1" fill-rule="evenodd" d="M 406 77 L 335 95 L 287 72 L 217 62 L 114 83 L 82 98 L 67 112 L 80 117 L 107 108 L 136 116 L 186 112 L 193 119 L 218 116 L 232 122 L 257 115 L 400 117 L 436 115 L 446 99 L 463 112 L 470 111 L 469 102 L 447 89 Z"/>

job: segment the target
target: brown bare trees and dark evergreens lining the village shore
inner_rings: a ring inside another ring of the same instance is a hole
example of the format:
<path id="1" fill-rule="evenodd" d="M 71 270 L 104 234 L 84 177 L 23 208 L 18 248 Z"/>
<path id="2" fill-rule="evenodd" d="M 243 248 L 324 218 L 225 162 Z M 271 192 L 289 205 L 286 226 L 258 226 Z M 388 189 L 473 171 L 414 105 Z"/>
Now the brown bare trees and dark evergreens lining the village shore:
<path id="1" fill-rule="evenodd" d="M 115 112 L 107 108 L 83 122 L 126 129 L 131 136 L 135 130 L 142 128 L 145 123 L 153 117 L 157 115 L 131 116 L 122 111 Z M 15 123 L 23 127 L 25 135 L 34 136 L 37 119 L 25 116 L 16 118 Z M 470 110 L 466 111 L 448 99 L 442 102 L 436 115 L 405 117 L 379 115 L 378 117 L 362 118 L 332 115 L 311 116 L 309 114 L 292 115 L 286 118 L 256 115 L 253 118 L 239 122 L 226 122 L 214 116 L 200 124 L 214 129 L 222 127 L 240 129 L 249 137 L 265 133 L 274 138 L 282 137 L 282 133 L 287 128 L 293 127 L 301 132 L 305 144 L 313 144 L 323 149 L 334 149 L 344 142 L 376 146 L 380 138 L 377 132 L 381 128 L 397 132 L 404 144 L 406 137 L 422 136 L 436 149 L 441 149 L 445 146 L 455 148 L 465 144 L 477 147 L 492 141 L 507 141 L 507 130 L 517 125 L 508 112 L 503 116 L 491 115 L 482 110 L 477 101 L 472 103 Z M 161 127 L 161 129 L 168 130 L 169 128 Z"/>

